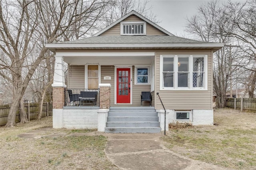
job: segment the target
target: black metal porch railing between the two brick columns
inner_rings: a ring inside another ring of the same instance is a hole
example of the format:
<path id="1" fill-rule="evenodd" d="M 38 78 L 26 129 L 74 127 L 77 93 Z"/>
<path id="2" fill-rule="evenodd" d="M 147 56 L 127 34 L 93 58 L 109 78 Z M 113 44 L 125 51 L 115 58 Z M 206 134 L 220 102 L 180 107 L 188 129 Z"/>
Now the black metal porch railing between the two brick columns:
<path id="1" fill-rule="evenodd" d="M 100 106 L 100 89 L 65 88 L 65 106 Z"/>

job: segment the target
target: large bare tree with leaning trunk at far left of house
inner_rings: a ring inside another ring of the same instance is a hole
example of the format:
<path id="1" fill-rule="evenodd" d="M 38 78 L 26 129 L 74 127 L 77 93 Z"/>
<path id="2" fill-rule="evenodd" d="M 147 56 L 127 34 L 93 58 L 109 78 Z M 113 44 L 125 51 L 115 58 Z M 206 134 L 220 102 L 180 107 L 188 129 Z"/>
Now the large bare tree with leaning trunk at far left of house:
<path id="1" fill-rule="evenodd" d="M 93 19 L 97 20 L 111 6 L 110 0 L 0 2 L 0 48 L 8 58 L 0 59 L 0 75 L 12 83 L 15 91 L 6 127 L 15 125 L 16 112 L 26 87 L 38 65 L 47 58 L 44 43 L 63 41 L 64 33 L 72 31 L 78 21 L 91 20 L 93 24 Z M 2 69 L 8 70 L 11 78 Z"/>

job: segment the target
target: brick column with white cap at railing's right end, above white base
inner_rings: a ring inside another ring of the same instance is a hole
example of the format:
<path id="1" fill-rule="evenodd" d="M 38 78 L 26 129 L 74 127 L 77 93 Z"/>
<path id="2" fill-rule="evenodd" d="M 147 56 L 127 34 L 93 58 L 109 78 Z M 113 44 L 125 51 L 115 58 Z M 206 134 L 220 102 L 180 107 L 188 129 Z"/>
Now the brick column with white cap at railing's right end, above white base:
<path id="1" fill-rule="evenodd" d="M 100 109 L 110 108 L 110 87 L 108 83 L 99 84 L 100 87 Z"/>

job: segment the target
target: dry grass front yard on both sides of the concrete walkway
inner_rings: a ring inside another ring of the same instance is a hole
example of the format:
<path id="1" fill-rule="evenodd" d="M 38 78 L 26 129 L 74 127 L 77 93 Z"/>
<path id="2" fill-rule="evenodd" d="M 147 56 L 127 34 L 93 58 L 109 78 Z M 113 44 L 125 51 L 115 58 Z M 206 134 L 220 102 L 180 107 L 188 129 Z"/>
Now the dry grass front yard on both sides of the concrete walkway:
<path id="1" fill-rule="evenodd" d="M 214 123 L 172 128 L 162 140 L 170 150 L 195 160 L 255 170 L 256 114 L 217 109 Z M 105 156 L 104 133 L 50 126 L 52 117 L 0 128 L 0 169 L 118 169 Z"/>

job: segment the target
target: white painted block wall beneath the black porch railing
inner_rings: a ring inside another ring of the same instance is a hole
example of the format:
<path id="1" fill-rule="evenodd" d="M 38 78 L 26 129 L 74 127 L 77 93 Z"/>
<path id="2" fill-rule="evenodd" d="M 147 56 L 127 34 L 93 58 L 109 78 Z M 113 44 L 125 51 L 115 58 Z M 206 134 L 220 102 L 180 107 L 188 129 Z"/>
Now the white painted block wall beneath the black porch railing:
<path id="1" fill-rule="evenodd" d="M 53 128 L 98 128 L 97 109 L 54 109 Z"/>

